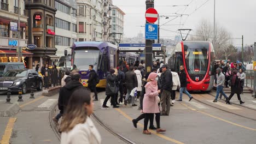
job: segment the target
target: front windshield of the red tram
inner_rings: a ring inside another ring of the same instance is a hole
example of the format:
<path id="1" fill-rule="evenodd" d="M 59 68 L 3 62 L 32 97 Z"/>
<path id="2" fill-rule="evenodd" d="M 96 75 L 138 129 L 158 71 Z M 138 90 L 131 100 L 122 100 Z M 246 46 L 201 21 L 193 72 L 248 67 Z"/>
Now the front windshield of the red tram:
<path id="1" fill-rule="evenodd" d="M 187 47 L 187 51 L 185 51 Z M 185 65 L 190 75 L 205 75 L 208 68 L 208 47 L 189 47 L 184 45 Z"/>

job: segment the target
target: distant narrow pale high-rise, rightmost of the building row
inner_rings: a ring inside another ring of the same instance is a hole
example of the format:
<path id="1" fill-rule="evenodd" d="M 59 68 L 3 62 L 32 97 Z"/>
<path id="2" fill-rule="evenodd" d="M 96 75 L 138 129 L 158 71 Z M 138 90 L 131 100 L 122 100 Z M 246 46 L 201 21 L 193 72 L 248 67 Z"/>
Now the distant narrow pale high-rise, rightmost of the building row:
<path id="1" fill-rule="evenodd" d="M 123 41 L 124 34 L 124 11 L 117 6 L 112 7 L 112 34 L 115 37 L 115 44 Z M 118 33 L 118 34 L 115 34 Z"/>

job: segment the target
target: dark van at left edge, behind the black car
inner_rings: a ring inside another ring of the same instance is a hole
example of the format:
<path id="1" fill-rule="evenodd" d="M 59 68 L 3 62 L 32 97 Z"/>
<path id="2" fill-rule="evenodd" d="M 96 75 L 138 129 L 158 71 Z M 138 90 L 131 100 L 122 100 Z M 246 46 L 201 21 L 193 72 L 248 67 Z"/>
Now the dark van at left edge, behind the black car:
<path id="1" fill-rule="evenodd" d="M 3 75 L 8 70 L 25 69 L 25 65 L 22 62 L 8 62 L 0 63 L 0 75 Z"/>

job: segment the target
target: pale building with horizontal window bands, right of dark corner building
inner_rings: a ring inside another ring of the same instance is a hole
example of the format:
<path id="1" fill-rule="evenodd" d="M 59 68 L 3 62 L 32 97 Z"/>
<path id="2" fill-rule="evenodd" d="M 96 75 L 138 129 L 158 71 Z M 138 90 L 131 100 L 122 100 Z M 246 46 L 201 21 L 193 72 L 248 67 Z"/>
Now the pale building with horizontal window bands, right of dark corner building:
<path id="1" fill-rule="evenodd" d="M 71 53 L 71 47 L 77 40 L 77 6 L 75 0 L 55 1 L 55 47 L 56 55 L 64 56 L 65 49 Z"/>

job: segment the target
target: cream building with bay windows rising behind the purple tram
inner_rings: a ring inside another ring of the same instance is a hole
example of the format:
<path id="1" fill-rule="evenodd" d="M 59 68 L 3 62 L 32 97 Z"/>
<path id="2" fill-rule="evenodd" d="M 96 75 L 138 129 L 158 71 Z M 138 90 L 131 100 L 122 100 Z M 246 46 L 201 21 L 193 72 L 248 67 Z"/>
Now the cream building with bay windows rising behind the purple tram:
<path id="1" fill-rule="evenodd" d="M 112 0 L 77 0 L 77 40 L 111 41 Z"/>

